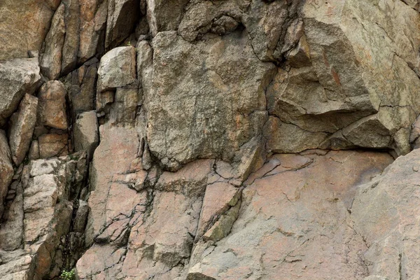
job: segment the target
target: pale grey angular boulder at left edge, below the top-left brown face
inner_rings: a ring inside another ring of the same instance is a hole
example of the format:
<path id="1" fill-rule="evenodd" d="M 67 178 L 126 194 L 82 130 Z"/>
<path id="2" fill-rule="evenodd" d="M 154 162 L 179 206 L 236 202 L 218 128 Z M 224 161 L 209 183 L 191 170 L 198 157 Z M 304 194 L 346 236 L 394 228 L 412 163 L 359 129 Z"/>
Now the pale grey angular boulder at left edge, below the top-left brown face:
<path id="1" fill-rule="evenodd" d="M 18 108 L 20 99 L 41 85 L 38 59 L 0 62 L 0 126 Z"/>

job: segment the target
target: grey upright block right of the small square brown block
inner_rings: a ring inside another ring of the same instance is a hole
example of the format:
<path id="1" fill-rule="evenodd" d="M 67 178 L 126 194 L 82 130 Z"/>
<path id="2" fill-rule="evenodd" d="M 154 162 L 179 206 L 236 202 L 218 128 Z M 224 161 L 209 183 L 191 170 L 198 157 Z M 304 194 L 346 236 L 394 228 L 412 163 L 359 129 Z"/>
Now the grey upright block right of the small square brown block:
<path id="1" fill-rule="evenodd" d="M 99 125 L 95 111 L 80 113 L 73 128 L 74 150 L 86 151 L 92 159 L 94 149 L 99 144 Z"/>

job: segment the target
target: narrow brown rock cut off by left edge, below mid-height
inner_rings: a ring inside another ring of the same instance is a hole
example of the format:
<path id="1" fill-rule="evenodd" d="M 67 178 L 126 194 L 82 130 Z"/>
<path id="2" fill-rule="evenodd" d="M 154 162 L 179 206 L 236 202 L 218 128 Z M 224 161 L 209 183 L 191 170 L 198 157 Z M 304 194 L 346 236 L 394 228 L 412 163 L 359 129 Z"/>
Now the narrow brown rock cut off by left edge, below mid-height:
<path id="1" fill-rule="evenodd" d="M 3 200 L 10 183 L 12 183 L 14 173 L 6 133 L 0 130 L 0 216 L 3 215 Z"/>

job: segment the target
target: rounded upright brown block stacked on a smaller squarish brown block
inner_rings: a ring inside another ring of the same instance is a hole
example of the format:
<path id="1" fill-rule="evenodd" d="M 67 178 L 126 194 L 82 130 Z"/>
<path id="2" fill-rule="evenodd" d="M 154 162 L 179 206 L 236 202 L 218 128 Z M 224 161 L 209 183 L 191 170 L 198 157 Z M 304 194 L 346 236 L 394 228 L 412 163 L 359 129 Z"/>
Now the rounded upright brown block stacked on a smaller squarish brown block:
<path id="1" fill-rule="evenodd" d="M 66 88 L 58 80 L 45 83 L 38 93 L 38 124 L 59 130 L 68 127 L 66 116 Z"/>

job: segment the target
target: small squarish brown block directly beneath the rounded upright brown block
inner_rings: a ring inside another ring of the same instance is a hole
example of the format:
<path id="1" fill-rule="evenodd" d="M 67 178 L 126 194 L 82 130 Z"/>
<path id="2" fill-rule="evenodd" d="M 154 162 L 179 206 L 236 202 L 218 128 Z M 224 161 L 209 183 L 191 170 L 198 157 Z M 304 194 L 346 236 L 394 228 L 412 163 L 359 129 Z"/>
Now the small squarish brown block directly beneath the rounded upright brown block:
<path id="1" fill-rule="evenodd" d="M 53 158 L 67 155 L 68 134 L 43 134 L 38 137 L 39 158 Z"/>

